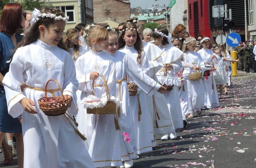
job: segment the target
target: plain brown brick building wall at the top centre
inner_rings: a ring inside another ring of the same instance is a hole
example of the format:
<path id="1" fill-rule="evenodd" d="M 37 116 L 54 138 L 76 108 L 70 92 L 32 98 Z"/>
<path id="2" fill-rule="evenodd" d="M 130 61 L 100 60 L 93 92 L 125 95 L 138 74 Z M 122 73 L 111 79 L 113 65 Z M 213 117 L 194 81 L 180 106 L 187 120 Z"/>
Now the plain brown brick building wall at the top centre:
<path id="1" fill-rule="evenodd" d="M 130 1 L 128 0 L 93 0 L 94 22 L 112 20 L 126 22 L 130 18 Z"/>

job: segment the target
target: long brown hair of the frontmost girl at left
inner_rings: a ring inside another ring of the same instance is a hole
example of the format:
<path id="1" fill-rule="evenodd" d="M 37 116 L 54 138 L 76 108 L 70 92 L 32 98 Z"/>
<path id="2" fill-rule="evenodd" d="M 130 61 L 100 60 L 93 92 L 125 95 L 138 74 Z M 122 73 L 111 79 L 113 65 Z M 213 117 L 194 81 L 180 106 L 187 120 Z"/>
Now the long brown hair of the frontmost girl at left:
<path id="1" fill-rule="evenodd" d="M 50 8 L 50 7 L 43 7 L 40 10 L 41 13 L 52 13 L 55 14 L 56 16 L 62 16 L 65 17 L 65 13 L 61 12 L 60 9 L 55 9 L 55 8 Z M 59 20 L 62 21 L 62 20 Z M 17 47 L 15 48 L 14 51 L 16 51 L 19 47 L 21 46 L 27 46 L 31 43 L 33 43 L 34 41 L 37 41 L 37 39 L 40 36 L 40 31 L 38 29 L 38 27 L 40 25 L 44 25 L 46 28 L 49 28 L 51 25 L 55 24 L 55 20 L 52 18 L 48 18 L 48 17 L 39 17 L 38 21 L 36 21 L 30 28 L 29 31 L 26 32 L 25 36 L 23 37 L 23 40 L 20 41 L 20 43 L 17 45 Z M 68 48 L 66 47 L 66 45 L 63 42 L 63 39 L 61 39 L 57 45 L 59 48 L 69 51 Z"/>

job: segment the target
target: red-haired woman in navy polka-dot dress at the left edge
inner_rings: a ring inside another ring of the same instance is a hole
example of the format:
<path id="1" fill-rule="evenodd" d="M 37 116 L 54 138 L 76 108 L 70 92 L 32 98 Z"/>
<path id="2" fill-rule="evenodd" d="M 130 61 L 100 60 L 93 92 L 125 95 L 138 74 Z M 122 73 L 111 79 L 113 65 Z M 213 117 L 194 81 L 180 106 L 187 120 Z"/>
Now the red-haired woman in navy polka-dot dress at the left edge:
<path id="1" fill-rule="evenodd" d="M 9 71 L 14 54 L 12 50 L 22 40 L 23 36 L 18 34 L 17 31 L 25 27 L 25 20 L 26 13 L 21 5 L 8 3 L 3 7 L 0 20 L 0 144 L 2 144 L 4 150 L 4 164 L 10 164 L 13 161 L 12 147 L 6 143 L 4 133 L 14 133 L 19 168 L 23 168 L 24 155 L 22 125 L 18 118 L 13 118 L 8 114 L 8 102 L 6 102 L 2 81 L 4 75 Z M 22 89 L 24 86 L 25 84 L 20 88 Z"/>

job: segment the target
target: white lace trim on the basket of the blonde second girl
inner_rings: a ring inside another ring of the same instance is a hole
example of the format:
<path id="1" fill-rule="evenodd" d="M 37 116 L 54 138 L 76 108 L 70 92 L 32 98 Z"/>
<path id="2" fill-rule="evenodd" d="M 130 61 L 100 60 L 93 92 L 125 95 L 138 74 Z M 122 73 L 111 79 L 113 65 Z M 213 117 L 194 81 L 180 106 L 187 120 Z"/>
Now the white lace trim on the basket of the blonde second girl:
<path id="1" fill-rule="evenodd" d="M 106 105 L 107 101 L 108 97 L 105 94 L 101 97 L 101 99 L 94 95 L 89 95 L 83 98 L 80 101 L 80 103 L 84 104 L 84 108 L 102 108 Z M 114 96 L 110 96 L 110 101 L 116 103 L 117 107 L 119 107 L 122 104 L 122 102 Z"/>

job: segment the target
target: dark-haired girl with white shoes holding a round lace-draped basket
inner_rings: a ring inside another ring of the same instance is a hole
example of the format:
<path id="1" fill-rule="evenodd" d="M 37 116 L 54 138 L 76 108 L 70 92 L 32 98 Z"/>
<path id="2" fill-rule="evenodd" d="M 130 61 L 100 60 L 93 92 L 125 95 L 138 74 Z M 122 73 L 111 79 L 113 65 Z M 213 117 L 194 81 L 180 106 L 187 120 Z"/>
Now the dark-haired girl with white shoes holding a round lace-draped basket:
<path id="1" fill-rule="evenodd" d="M 162 27 L 159 29 L 155 29 L 152 36 L 155 38 L 156 45 L 159 46 L 159 48 L 163 52 L 165 52 L 165 55 L 162 56 L 164 65 L 157 72 L 156 75 L 159 75 L 159 77 L 164 76 L 164 73 L 167 70 L 167 77 L 172 81 L 175 81 L 175 74 L 179 72 L 182 68 L 181 58 L 183 52 L 172 45 L 171 34 L 168 32 L 166 28 Z M 178 89 L 176 83 L 173 82 L 173 84 L 175 86 L 173 86 L 173 89 L 171 91 L 167 91 L 165 98 L 167 101 L 169 112 L 172 117 L 174 129 L 177 129 L 183 128 L 183 119 Z M 170 133 L 171 139 L 175 139 L 176 137 L 176 132 Z M 168 138 L 169 134 L 162 136 L 161 140 L 168 140 Z"/>

